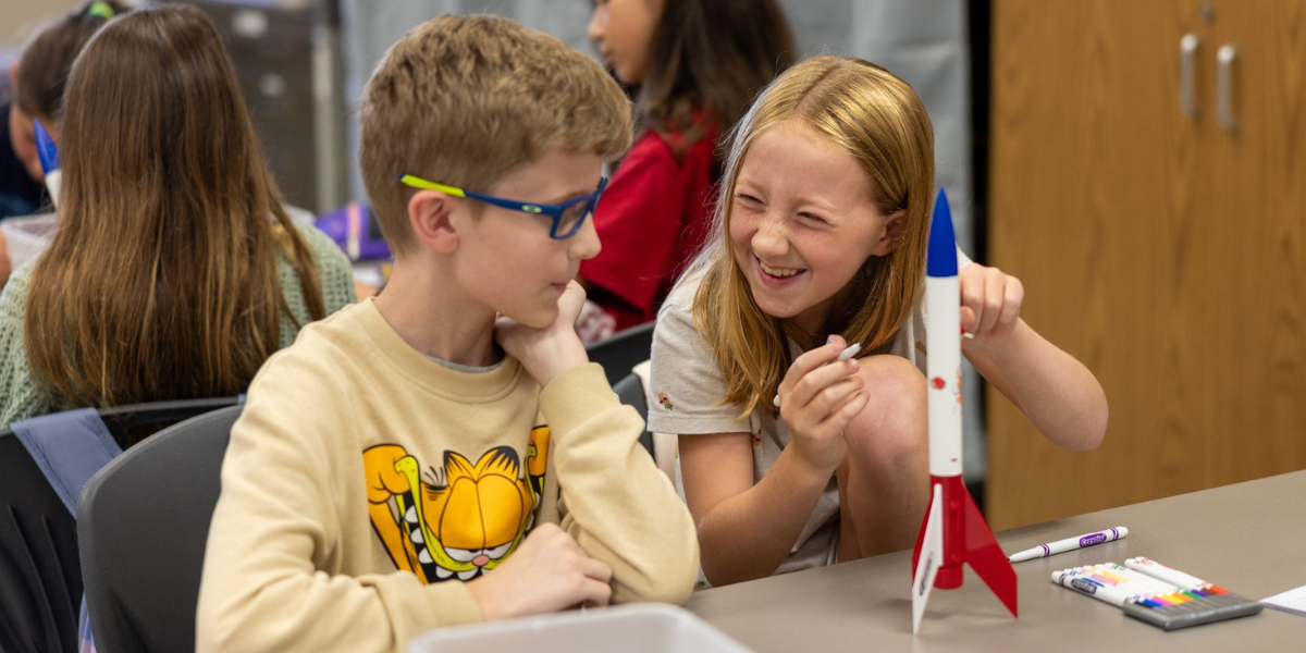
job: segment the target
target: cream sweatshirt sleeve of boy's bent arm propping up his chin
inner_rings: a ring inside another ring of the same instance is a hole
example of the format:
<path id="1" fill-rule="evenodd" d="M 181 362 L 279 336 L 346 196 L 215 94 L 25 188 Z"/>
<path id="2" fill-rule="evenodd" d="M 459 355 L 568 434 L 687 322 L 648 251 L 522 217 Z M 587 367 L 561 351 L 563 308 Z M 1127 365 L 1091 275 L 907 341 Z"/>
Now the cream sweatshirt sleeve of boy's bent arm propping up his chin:
<path id="1" fill-rule="evenodd" d="M 639 444 L 639 414 L 594 363 L 554 379 L 541 407 L 555 439 L 562 528 L 613 568 L 613 602 L 684 602 L 699 572 L 697 533 Z"/>

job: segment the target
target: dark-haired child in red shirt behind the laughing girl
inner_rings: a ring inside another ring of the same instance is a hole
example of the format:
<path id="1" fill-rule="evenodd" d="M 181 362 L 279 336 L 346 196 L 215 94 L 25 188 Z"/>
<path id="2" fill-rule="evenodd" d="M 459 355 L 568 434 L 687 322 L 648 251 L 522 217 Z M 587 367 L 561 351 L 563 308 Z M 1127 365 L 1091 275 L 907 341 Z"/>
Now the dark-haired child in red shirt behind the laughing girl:
<path id="1" fill-rule="evenodd" d="M 635 146 L 594 213 L 603 251 L 580 266 L 620 330 L 654 319 L 707 239 L 717 137 L 795 48 L 774 0 L 599 0 L 589 35 L 616 77 L 640 88 Z"/>

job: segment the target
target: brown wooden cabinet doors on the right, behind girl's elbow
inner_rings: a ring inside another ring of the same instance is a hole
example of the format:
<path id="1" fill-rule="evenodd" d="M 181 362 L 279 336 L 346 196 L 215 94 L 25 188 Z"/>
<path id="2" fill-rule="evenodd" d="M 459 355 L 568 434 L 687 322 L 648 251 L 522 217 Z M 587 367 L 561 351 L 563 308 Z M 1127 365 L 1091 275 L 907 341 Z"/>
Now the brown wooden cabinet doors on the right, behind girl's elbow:
<path id="1" fill-rule="evenodd" d="M 1306 468 L 1303 4 L 995 0 L 989 263 L 1111 414 L 1068 452 L 987 393 L 995 528 Z"/>

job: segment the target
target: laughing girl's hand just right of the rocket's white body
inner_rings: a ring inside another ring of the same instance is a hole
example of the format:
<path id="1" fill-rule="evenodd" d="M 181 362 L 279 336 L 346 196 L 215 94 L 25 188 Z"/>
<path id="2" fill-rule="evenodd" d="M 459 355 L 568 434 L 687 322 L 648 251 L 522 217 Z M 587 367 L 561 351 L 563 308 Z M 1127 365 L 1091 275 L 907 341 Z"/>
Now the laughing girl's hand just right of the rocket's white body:
<path id="1" fill-rule="evenodd" d="M 1020 279 L 973 263 L 959 272 L 961 326 L 974 338 L 963 338 L 966 349 L 999 345 L 1020 321 L 1025 287 Z"/>

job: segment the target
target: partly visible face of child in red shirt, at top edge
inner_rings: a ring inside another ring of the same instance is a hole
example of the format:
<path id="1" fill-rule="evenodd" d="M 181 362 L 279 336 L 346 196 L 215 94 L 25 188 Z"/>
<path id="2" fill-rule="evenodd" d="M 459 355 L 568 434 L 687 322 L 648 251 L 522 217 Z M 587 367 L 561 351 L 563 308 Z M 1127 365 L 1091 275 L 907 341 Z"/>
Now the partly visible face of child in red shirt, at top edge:
<path id="1" fill-rule="evenodd" d="M 662 16 L 663 0 L 594 0 L 589 38 L 598 47 L 603 65 L 632 86 L 644 82 L 653 30 Z"/>

